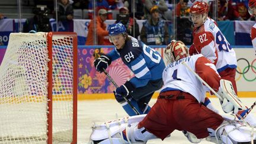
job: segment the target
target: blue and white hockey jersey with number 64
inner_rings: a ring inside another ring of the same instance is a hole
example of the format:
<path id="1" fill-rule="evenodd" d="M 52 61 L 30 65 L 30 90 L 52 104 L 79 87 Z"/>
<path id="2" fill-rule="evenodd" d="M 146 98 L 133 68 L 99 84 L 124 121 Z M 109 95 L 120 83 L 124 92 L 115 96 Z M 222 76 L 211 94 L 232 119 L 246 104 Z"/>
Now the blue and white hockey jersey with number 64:
<path id="1" fill-rule="evenodd" d="M 121 57 L 124 64 L 135 74 L 130 82 L 136 88 L 145 86 L 149 80 L 162 79 L 165 63 L 161 55 L 142 41 L 129 37 L 131 40 L 127 40 L 122 49 L 115 47 L 107 55 L 112 61 Z"/>

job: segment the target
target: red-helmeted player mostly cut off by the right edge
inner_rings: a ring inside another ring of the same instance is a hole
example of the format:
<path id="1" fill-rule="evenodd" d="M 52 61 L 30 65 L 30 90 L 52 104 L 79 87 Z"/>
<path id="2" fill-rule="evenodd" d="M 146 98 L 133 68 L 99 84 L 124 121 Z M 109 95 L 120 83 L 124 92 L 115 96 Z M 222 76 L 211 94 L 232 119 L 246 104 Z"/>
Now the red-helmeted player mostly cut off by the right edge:
<path id="1" fill-rule="evenodd" d="M 252 16 L 256 16 L 256 0 L 249 0 L 249 5 L 248 5 L 248 11 L 249 14 Z M 254 48 L 254 52 L 256 55 L 256 24 L 254 24 L 251 28 L 251 40 L 252 40 L 252 46 Z"/>

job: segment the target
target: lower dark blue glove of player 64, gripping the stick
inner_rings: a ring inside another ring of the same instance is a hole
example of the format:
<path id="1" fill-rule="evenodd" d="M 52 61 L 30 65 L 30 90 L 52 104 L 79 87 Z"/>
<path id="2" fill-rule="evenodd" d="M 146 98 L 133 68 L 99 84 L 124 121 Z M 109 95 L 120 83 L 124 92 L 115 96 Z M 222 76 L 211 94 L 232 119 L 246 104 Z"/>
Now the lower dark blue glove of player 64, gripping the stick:
<path id="1" fill-rule="evenodd" d="M 116 100 L 119 103 L 123 103 L 124 102 L 124 98 L 126 97 L 127 99 L 130 98 L 129 94 L 131 92 L 133 92 L 133 89 L 135 89 L 135 87 L 133 86 L 133 84 L 129 81 L 126 81 L 125 84 L 121 85 L 120 87 L 118 87 L 116 90 L 114 90 L 114 95 Z"/>

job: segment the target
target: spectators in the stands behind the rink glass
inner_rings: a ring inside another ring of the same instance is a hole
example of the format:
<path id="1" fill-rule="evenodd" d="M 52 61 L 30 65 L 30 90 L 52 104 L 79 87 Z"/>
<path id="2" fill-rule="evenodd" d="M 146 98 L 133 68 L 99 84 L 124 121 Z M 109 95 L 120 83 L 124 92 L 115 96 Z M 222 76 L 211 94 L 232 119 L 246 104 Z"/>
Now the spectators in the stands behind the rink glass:
<path id="1" fill-rule="evenodd" d="M 86 44 L 107 44 L 101 40 L 102 37 L 107 36 L 107 29 L 105 27 L 105 20 L 113 20 L 115 18 L 116 23 L 121 22 L 126 25 L 127 33 L 131 36 L 138 38 L 146 44 L 167 44 L 171 40 L 167 23 L 170 19 L 167 18 L 167 14 L 171 14 L 171 18 L 177 18 L 177 40 L 184 41 L 185 44 L 191 44 L 193 36 L 191 31 L 193 24 L 189 20 L 190 7 L 195 0 L 177 0 L 177 4 L 173 7 L 170 4 L 171 1 L 165 0 L 59 0 L 57 3 L 57 9 L 54 7 L 52 0 L 37 0 L 34 1 L 35 5 L 47 5 L 49 14 L 56 18 L 58 21 L 70 21 L 73 20 L 73 9 L 85 9 L 88 11 L 88 18 L 91 21 L 89 24 L 89 33 Z M 209 16 L 213 16 L 212 1 L 208 1 L 210 5 Z M 135 7 L 133 7 L 133 5 Z M 171 6 L 170 6 L 171 5 Z M 104 9 L 104 10 L 103 10 Z M 113 15 L 113 11 L 119 11 L 118 15 Z M 172 11 L 167 13 L 167 11 Z M 133 12 L 135 14 L 133 14 Z M 96 18 L 94 18 L 94 15 Z M 30 18 L 25 23 L 24 32 L 30 30 L 35 31 L 50 31 L 50 28 L 46 28 L 48 25 L 44 25 L 44 29 L 40 28 L 40 23 L 45 20 L 41 20 L 39 14 L 35 14 L 33 18 Z M 2 15 L 0 15 L 0 18 Z M 45 19 L 45 18 L 43 18 Z M 47 19 L 49 20 L 49 18 Z M 46 21 L 47 21 L 46 20 Z M 139 31 L 139 25 L 136 20 L 146 20 L 143 23 L 142 30 Z M 248 13 L 248 0 L 217 0 L 217 17 L 216 21 L 226 20 L 254 20 Z M 96 21 L 97 25 L 93 25 Z M 39 24 L 38 24 L 39 23 Z M 96 31 L 94 31 L 96 30 Z M 91 34 L 97 32 L 97 40 L 93 40 Z"/>

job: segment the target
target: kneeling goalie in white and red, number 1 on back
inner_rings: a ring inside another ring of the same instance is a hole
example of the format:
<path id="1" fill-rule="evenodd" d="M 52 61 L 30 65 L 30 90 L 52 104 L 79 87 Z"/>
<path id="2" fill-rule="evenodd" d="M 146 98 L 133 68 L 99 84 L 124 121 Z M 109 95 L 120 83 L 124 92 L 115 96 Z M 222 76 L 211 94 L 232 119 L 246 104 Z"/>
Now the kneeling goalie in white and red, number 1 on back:
<path id="1" fill-rule="evenodd" d="M 147 115 L 95 126 L 91 135 L 92 143 L 146 143 L 156 137 L 164 140 L 174 130 L 186 130 L 202 139 L 209 136 L 207 129 L 214 133 L 215 143 L 251 142 L 255 139 L 256 133 L 248 125 L 223 118 L 201 104 L 205 98 L 205 86 L 182 63 L 219 92 L 222 96 L 220 102 L 226 113 L 238 108 L 228 100 L 224 91 L 226 88 L 220 85 L 226 80 L 220 78 L 209 59 L 201 54 L 188 56 L 185 44 L 175 40 L 167 46 L 165 55 L 171 63 L 162 73 L 164 87 L 151 111 Z M 229 87 L 232 88 L 232 84 Z"/>

